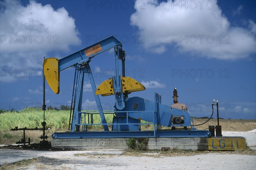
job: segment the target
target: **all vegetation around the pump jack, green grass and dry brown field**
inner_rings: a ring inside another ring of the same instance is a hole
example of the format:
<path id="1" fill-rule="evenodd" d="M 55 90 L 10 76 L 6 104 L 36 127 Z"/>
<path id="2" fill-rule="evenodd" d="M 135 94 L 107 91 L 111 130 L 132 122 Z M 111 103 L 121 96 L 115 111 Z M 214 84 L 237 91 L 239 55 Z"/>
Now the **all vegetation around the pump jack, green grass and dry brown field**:
<path id="1" fill-rule="evenodd" d="M 59 110 L 61 109 L 61 110 Z M 47 127 L 50 127 L 51 130 L 47 130 L 47 136 L 50 136 L 52 133 L 58 131 L 67 131 L 68 124 L 70 119 L 70 106 L 63 105 L 58 109 L 48 108 L 45 111 L 45 122 L 47 122 Z M 91 111 L 93 112 L 93 111 Z M 82 122 L 84 122 L 84 115 L 82 115 Z M 112 123 L 113 114 L 105 114 L 105 118 L 107 123 Z M 91 123 L 91 118 L 89 115 L 89 119 L 86 116 L 86 122 Z M 194 118 L 194 124 L 201 124 L 205 122 L 206 118 L 196 119 Z M 22 131 L 11 131 L 11 128 L 19 127 L 27 127 L 27 128 L 35 128 L 42 127 L 41 122 L 43 122 L 43 111 L 41 108 L 25 108 L 23 111 L 4 111 L 0 114 L 0 144 L 10 144 L 15 143 L 23 138 Z M 93 115 L 93 123 L 100 123 L 99 114 Z M 148 123 L 145 121 L 141 121 L 142 123 Z M 207 129 L 209 125 L 217 125 L 216 119 L 211 119 L 204 125 L 196 126 L 199 130 Z M 256 128 L 256 120 L 238 120 L 238 119 L 220 119 L 220 125 L 222 126 L 222 131 L 248 131 Z M 109 125 L 109 129 L 111 129 L 111 125 Z M 162 129 L 169 129 L 169 127 L 162 127 Z M 101 125 L 90 125 L 87 126 L 87 130 L 103 130 Z M 153 130 L 153 125 L 142 125 L 141 130 Z M 31 142 L 39 142 L 41 139 L 38 136 L 42 135 L 41 130 L 28 130 L 26 131 L 26 140 L 30 137 Z M 49 138 L 50 140 L 50 138 Z M 128 141 L 133 145 L 133 141 Z M 138 142 L 136 142 L 138 145 Z M 138 145 L 140 146 L 140 145 Z M 135 147 L 135 146 L 134 146 Z"/>

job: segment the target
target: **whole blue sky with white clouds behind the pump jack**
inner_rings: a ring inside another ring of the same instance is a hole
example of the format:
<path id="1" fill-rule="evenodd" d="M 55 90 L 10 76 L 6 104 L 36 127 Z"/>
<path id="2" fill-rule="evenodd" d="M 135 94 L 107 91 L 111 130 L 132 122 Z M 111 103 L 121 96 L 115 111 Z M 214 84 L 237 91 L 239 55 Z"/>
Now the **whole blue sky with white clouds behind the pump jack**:
<path id="1" fill-rule="evenodd" d="M 42 104 L 42 63 L 110 35 L 126 51 L 127 76 L 146 90 L 130 96 L 172 105 L 172 91 L 191 116 L 256 119 L 256 1 L 1 1 L 0 102 L 16 111 Z M 114 74 L 113 49 L 90 62 L 96 86 Z M 61 71 L 60 94 L 47 106 L 70 105 L 73 68 Z M 100 97 L 112 109 L 113 96 Z M 83 108 L 95 109 L 89 80 Z M 216 117 L 216 116 L 215 116 Z"/>

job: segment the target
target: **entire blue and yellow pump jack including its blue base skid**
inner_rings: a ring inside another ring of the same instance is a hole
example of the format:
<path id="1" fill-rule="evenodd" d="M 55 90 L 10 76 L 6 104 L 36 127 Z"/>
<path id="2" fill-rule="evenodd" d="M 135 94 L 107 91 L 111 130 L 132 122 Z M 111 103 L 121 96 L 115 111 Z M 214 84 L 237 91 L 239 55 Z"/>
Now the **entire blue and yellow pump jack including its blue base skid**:
<path id="1" fill-rule="evenodd" d="M 114 50 L 115 76 L 102 82 L 96 88 L 89 63 L 98 54 L 109 49 Z M 154 101 L 141 97 L 128 97 L 135 91 L 145 87 L 131 77 L 125 77 L 125 51 L 122 43 L 111 36 L 96 42 L 62 59 L 44 59 L 45 78 L 55 94 L 60 90 L 60 72 L 66 68 L 75 68 L 75 78 L 70 111 L 70 132 L 55 132 L 54 139 L 73 138 L 143 138 L 143 137 L 210 137 L 207 130 L 197 130 L 187 112 L 186 105 L 177 102 L 177 90 L 174 90 L 174 104 L 170 107 L 161 103 L 161 96 L 154 94 Z M 122 61 L 122 75 L 119 75 L 119 60 Z M 84 74 L 87 74 L 98 111 L 84 112 L 82 94 Z M 114 111 L 103 111 L 99 99 L 102 96 L 115 96 Z M 101 122 L 93 123 L 93 115 L 99 114 Z M 105 114 L 113 114 L 113 122 L 107 123 Z M 141 120 L 146 123 L 141 123 Z M 192 122 L 192 123 L 191 123 Z M 88 131 L 89 125 L 102 125 L 104 131 Z M 152 125 L 154 130 L 140 130 L 141 125 Z M 170 127 L 162 130 L 162 126 Z M 112 127 L 111 130 L 109 127 Z"/>

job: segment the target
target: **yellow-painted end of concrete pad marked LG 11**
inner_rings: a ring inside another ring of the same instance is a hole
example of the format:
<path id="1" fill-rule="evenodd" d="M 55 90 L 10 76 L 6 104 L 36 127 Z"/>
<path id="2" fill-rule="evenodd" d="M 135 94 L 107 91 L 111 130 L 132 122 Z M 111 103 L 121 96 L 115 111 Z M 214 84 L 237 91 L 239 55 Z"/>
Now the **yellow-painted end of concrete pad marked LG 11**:
<path id="1" fill-rule="evenodd" d="M 208 150 L 245 150 L 243 137 L 212 137 L 208 138 Z"/>

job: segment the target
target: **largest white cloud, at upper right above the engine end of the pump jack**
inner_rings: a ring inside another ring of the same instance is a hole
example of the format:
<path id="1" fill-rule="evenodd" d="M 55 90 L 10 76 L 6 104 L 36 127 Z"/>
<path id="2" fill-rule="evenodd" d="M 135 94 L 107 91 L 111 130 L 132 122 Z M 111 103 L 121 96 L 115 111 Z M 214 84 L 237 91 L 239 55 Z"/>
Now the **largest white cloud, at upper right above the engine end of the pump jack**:
<path id="1" fill-rule="evenodd" d="M 230 26 L 216 0 L 137 0 L 135 9 L 131 25 L 145 37 L 148 51 L 159 54 L 173 45 L 195 56 L 232 60 L 256 52 L 255 23 L 250 20 L 249 29 Z"/>

